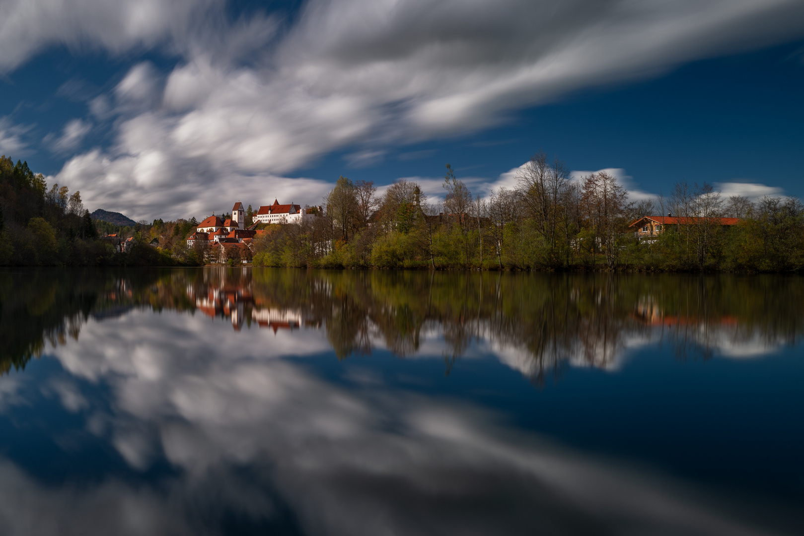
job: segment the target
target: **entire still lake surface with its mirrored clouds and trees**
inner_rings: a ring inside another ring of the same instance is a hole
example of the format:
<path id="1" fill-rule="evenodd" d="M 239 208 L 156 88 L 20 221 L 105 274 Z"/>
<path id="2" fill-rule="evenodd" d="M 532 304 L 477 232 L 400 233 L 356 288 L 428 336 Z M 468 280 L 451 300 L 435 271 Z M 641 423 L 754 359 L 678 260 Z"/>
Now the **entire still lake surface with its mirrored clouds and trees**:
<path id="1" fill-rule="evenodd" d="M 0 271 L 0 534 L 802 534 L 804 279 Z"/>

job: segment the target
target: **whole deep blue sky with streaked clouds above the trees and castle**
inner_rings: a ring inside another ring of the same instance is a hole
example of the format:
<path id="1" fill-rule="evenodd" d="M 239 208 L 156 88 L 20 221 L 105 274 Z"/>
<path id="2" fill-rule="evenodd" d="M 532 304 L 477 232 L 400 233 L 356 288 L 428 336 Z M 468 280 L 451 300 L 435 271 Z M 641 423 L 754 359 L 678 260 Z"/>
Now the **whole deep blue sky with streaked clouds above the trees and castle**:
<path id="1" fill-rule="evenodd" d="M 0 153 L 133 219 L 487 195 L 539 150 L 804 197 L 802 95 L 801 0 L 0 0 Z"/>

